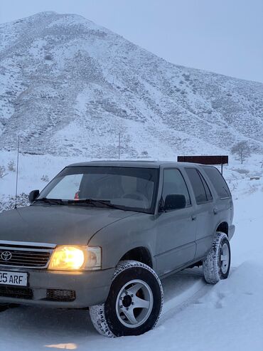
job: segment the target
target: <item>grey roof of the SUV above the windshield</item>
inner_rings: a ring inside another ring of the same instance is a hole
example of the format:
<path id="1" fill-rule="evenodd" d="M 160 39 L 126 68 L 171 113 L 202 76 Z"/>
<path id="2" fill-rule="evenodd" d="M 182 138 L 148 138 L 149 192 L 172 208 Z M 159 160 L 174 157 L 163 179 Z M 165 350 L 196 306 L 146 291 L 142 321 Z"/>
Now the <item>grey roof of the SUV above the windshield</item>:
<path id="1" fill-rule="evenodd" d="M 68 165 L 68 167 L 136 167 L 136 168 L 159 168 L 190 166 L 194 163 L 190 162 L 173 162 L 173 161 L 154 161 L 154 160 L 100 160 L 90 162 L 80 162 Z"/>

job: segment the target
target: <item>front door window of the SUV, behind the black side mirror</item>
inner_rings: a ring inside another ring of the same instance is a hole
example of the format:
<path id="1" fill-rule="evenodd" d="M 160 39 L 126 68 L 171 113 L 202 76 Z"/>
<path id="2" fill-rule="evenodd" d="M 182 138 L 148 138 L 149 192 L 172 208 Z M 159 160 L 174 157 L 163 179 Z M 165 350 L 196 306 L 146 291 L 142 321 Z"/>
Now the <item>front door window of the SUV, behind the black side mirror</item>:
<path id="1" fill-rule="evenodd" d="M 163 170 L 163 201 L 167 195 L 180 194 L 186 197 L 186 206 L 190 206 L 190 196 L 181 172 L 178 169 Z"/>

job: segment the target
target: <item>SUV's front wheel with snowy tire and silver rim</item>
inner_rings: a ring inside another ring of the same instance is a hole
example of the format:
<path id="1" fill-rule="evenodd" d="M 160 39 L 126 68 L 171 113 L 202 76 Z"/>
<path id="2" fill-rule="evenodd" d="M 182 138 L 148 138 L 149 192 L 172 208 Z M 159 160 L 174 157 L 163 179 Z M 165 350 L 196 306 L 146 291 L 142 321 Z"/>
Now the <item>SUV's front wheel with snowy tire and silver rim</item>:
<path id="1" fill-rule="evenodd" d="M 141 335 L 154 328 L 162 305 L 163 288 L 156 273 L 144 263 L 121 261 L 106 302 L 90 307 L 90 317 L 102 335 Z"/>

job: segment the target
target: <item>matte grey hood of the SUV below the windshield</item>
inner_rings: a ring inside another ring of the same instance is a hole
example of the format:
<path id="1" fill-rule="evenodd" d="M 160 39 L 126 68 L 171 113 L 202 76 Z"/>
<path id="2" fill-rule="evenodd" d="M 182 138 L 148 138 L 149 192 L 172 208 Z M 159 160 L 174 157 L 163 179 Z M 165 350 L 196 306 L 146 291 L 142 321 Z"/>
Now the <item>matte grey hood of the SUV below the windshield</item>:
<path id="1" fill-rule="evenodd" d="M 89 206 L 28 206 L 0 214 L 0 240 L 87 245 L 97 231 L 135 213 Z"/>

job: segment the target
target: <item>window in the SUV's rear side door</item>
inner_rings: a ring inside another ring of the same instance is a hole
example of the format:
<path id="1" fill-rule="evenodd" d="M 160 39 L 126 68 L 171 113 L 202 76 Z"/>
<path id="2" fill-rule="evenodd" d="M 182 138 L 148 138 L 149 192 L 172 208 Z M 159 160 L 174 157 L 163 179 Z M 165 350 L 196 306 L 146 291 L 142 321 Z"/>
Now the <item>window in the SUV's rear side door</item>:
<path id="1" fill-rule="evenodd" d="M 196 203 L 203 204 L 212 200 L 212 194 L 202 174 L 195 168 L 186 168 L 186 173 L 192 184 Z"/>

